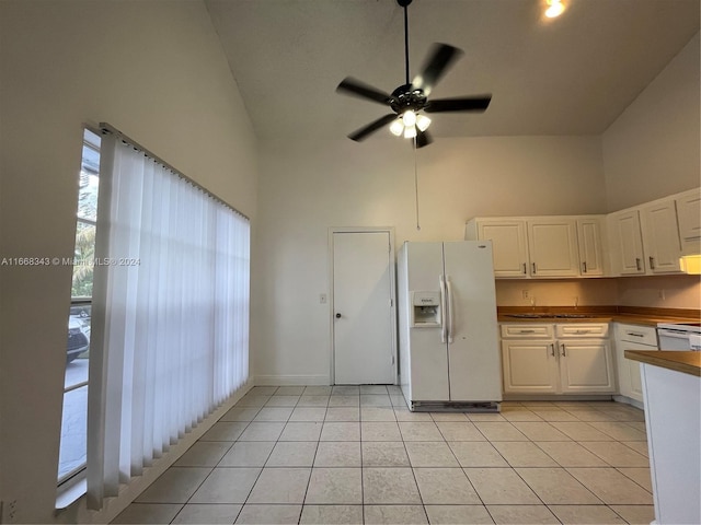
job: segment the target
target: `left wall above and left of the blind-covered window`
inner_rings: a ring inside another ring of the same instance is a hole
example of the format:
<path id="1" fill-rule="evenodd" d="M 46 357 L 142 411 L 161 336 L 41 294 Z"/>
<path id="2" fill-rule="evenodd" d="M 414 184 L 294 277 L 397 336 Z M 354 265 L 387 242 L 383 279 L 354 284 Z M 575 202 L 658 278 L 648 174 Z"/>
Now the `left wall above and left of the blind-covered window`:
<path id="1" fill-rule="evenodd" d="M 83 122 L 255 218 L 255 139 L 200 1 L 2 1 L 0 35 L 0 257 L 72 256 Z M 0 270 L 0 498 L 50 523 L 71 268 Z"/>

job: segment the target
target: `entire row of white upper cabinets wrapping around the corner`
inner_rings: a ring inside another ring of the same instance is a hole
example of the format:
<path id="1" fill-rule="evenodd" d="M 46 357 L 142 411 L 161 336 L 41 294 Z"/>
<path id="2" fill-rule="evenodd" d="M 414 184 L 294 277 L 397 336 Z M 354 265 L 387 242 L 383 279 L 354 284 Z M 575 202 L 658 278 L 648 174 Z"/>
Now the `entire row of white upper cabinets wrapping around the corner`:
<path id="1" fill-rule="evenodd" d="M 466 240 L 491 240 L 497 279 L 681 273 L 701 254 L 701 188 L 607 215 L 476 217 Z"/>

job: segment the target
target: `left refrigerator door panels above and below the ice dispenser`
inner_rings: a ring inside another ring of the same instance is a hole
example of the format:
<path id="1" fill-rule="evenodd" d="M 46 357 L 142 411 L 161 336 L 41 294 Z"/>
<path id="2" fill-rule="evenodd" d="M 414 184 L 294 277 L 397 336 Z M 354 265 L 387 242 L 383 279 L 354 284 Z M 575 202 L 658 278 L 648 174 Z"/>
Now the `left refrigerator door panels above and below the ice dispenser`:
<path id="1" fill-rule="evenodd" d="M 440 290 L 443 243 L 406 243 L 404 247 L 407 292 Z M 441 329 L 409 329 L 410 401 L 449 399 L 448 349 L 445 342 L 440 342 Z"/>

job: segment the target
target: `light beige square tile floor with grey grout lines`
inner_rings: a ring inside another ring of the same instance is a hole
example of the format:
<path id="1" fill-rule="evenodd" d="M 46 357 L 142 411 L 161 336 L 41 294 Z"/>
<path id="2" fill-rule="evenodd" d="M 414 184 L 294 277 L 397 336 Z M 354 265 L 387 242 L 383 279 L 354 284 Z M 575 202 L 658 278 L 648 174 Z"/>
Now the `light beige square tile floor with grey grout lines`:
<path id="1" fill-rule="evenodd" d="M 255 387 L 113 523 L 648 524 L 641 410 L 411 412 L 395 386 Z"/>

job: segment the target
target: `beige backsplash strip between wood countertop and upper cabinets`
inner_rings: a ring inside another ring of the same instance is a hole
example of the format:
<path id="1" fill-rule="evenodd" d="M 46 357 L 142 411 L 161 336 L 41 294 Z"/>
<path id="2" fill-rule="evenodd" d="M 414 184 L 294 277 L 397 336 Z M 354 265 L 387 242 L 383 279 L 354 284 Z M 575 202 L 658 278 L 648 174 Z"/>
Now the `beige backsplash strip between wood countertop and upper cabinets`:
<path id="1" fill-rule="evenodd" d="M 701 308 L 699 276 L 607 279 L 498 279 L 498 306 L 645 306 Z"/>

